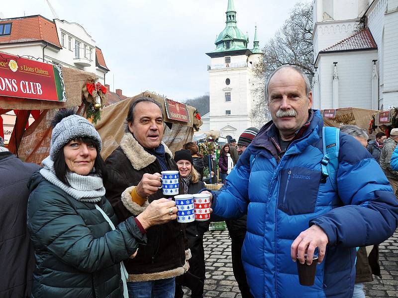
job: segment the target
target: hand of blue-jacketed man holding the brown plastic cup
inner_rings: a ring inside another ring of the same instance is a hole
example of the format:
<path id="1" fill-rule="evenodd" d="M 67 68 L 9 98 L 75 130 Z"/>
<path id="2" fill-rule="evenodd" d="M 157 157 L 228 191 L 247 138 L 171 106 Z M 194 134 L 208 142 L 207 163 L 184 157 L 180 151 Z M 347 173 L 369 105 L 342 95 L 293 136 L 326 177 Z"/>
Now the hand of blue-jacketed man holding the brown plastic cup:
<path id="1" fill-rule="evenodd" d="M 304 264 L 304 254 L 307 254 L 307 265 L 311 265 L 315 248 L 318 247 L 318 264 L 325 256 L 326 244 L 329 242 L 326 233 L 317 225 L 302 231 L 291 246 L 291 256 L 294 262 L 298 258 Z"/>

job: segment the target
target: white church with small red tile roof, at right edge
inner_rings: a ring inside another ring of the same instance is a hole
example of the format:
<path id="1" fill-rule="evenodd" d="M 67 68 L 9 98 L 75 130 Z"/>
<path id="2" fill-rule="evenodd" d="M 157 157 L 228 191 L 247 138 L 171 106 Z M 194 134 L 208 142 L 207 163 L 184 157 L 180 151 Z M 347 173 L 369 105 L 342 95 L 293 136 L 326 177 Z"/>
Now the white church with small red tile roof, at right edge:
<path id="1" fill-rule="evenodd" d="M 313 107 L 398 106 L 398 0 L 314 0 Z"/>

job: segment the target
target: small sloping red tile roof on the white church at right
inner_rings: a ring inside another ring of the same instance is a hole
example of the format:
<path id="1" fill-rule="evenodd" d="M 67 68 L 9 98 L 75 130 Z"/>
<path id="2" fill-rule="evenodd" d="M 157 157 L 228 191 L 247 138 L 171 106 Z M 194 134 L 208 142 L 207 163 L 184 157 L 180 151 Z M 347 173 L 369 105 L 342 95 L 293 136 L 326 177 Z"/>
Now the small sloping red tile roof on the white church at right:
<path id="1" fill-rule="evenodd" d="M 369 29 L 362 29 L 355 34 L 347 37 L 328 47 L 321 52 L 336 52 L 336 51 L 353 51 L 353 50 L 370 50 L 377 49 L 377 44 L 373 39 L 372 33 Z"/>

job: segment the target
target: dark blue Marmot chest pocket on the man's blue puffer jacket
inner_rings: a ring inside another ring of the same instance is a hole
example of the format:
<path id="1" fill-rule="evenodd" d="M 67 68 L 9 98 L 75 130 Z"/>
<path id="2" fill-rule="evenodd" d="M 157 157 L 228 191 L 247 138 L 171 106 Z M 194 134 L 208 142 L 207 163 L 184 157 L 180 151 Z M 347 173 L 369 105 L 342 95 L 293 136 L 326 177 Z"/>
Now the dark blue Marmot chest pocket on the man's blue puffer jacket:
<path id="1" fill-rule="evenodd" d="M 321 175 L 303 167 L 282 170 L 278 208 L 289 215 L 314 212 Z"/>

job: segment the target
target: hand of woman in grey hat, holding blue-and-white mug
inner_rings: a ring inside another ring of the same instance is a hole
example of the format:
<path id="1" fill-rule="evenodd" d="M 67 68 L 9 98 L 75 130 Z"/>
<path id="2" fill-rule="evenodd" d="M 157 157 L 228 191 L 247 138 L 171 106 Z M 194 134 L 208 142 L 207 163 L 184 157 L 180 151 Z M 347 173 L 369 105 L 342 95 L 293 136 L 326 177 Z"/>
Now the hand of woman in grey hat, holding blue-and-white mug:
<path id="1" fill-rule="evenodd" d="M 155 199 L 137 216 L 144 229 L 163 224 L 177 218 L 176 202 L 169 199 Z"/>

